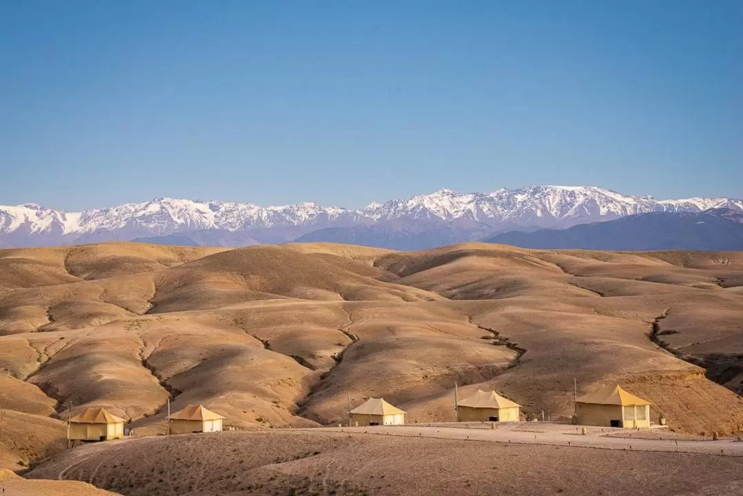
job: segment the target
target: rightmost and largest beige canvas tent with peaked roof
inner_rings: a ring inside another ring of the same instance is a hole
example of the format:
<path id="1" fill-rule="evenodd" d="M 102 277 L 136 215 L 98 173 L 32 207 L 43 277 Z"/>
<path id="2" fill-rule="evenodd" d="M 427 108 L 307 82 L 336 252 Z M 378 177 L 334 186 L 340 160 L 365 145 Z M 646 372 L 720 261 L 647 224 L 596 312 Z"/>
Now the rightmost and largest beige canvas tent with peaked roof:
<path id="1" fill-rule="evenodd" d="M 650 403 L 617 386 L 603 386 L 576 400 L 577 422 L 606 427 L 650 427 Z"/>

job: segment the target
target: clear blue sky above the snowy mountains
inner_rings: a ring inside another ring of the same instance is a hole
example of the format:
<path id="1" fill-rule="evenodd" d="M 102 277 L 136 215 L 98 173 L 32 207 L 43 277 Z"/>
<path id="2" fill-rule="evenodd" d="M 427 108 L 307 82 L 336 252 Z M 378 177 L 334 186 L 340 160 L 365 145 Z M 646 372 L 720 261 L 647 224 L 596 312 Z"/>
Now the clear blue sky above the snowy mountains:
<path id="1" fill-rule="evenodd" d="M 0 1 L 0 204 L 743 197 L 743 1 Z"/>

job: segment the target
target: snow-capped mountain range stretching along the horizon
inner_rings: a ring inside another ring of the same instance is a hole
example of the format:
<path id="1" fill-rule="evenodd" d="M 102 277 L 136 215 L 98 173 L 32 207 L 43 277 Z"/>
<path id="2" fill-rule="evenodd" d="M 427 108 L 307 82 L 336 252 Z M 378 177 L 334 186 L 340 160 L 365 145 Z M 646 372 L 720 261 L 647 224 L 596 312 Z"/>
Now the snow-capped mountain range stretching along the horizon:
<path id="1" fill-rule="evenodd" d="M 0 206 L 0 247 L 48 246 L 98 241 L 158 238 L 208 232 L 223 244 L 291 241 L 325 228 L 394 225 L 476 225 L 477 231 L 568 227 L 609 221 L 643 212 L 702 212 L 710 208 L 743 210 L 743 200 L 688 198 L 655 200 L 597 186 L 530 186 L 491 193 L 459 194 L 440 189 L 409 200 L 371 203 L 364 209 L 323 207 L 317 203 L 257 206 L 216 200 L 156 198 L 108 209 L 64 212 L 36 204 Z M 467 230 L 467 229 L 465 229 Z M 466 236 L 465 236 L 466 237 Z"/>

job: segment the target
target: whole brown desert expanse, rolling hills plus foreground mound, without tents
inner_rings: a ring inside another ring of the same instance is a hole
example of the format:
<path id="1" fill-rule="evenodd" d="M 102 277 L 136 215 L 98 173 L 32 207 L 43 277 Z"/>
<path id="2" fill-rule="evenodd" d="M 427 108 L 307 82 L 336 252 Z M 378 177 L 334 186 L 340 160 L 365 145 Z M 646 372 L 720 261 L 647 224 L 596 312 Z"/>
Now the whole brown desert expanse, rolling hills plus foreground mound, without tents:
<path id="1" fill-rule="evenodd" d="M 740 431 L 743 252 L 0 250 L 0 468 L 34 479 L 132 496 L 739 494 L 742 458 L 308 430 L 369 397 L 451 422 L 455 382 L 567 421 L 574 380 L 622 385 L 679 434 Z M 163 437 L 168 401 L 242 431 Z M 65 451 L 65 418 L 88 406 L 136 436 Z"/>

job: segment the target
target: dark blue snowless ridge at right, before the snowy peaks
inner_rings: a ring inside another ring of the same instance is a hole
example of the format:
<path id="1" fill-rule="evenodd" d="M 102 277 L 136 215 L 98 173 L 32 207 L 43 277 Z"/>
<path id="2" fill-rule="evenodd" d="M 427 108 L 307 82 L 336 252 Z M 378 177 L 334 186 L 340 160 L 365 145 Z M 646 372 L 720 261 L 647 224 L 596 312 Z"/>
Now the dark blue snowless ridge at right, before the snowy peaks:
<path id="1" fill-rule="evenodd" d="M 504 232 L 486 241 L 537 249 L 738 251 L 743 250 L 743 212 L 648 212 L 568 229 Z"/>

